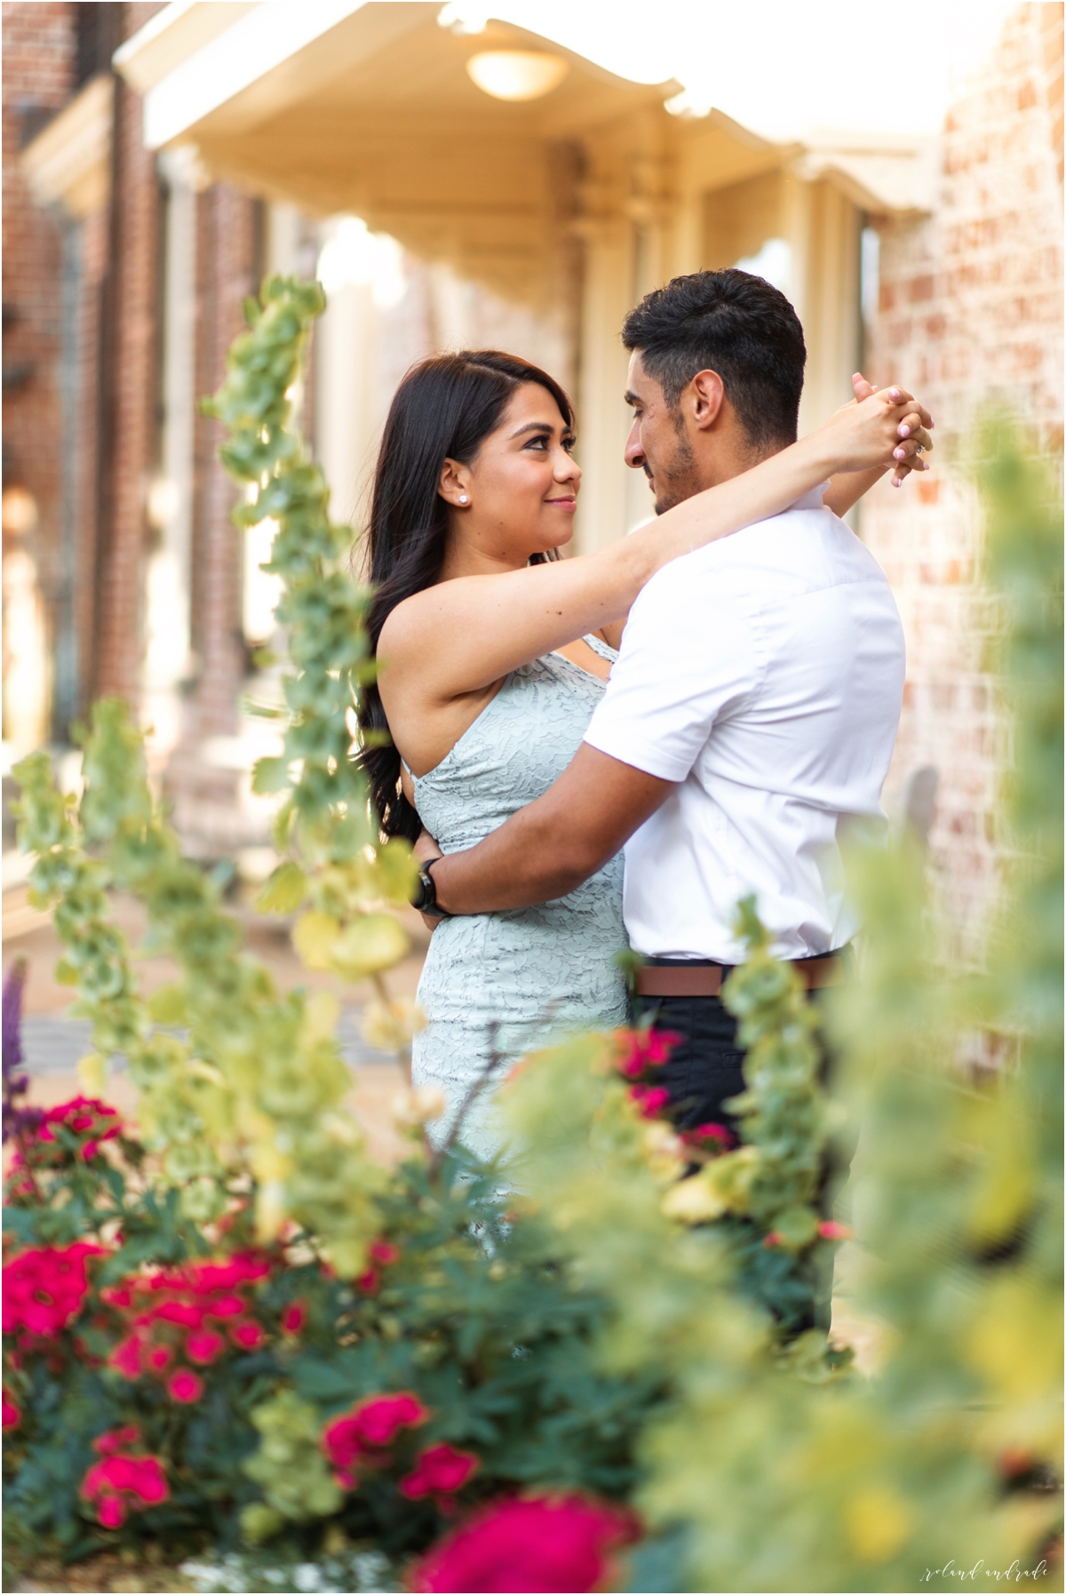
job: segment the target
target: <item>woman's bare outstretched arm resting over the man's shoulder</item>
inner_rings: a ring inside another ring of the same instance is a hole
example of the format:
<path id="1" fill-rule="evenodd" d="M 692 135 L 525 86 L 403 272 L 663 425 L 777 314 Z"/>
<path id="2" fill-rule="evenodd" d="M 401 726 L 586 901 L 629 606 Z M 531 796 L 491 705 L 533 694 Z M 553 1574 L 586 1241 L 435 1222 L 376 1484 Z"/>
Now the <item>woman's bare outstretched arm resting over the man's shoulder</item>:
<path id="1" fill-rule="evenodd" d="M 392 611 L 378 644 L 386 711 L 390 699 L 432 708 L 478 692 L 620 619 L 644 584 L 679 555 L 779 514 L 833 471 L 892 466 L 900 424 L 910 424 L 902 445 L 910 458 L 921 418 L 910 394 L 886 389 L 845 405 L 809 437 L 607 549 L 500 576 L 460 576 L 414 593 Z"/>

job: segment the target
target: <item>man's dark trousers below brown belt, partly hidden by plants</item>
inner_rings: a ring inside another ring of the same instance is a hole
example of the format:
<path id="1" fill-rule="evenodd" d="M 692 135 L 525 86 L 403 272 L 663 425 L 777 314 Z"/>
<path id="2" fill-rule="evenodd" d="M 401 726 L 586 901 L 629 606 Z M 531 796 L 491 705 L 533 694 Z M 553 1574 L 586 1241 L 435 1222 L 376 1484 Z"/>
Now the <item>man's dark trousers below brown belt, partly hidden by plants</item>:
<path id="1" fill-rule="evenodd" d="M 653 965 L 672 965 L 672 959 L 649 959 Z M 819 1003 L 824 992 L 814 990 L 809 1000 Z M 725 1008 L 720 997 L 634 997 L 634 1019 L 650 1021 L 660 1030 L 676 1030 L 682 1040 L 674 1046 L 669 1062 L 656 1069 L 655 1080 L 666 1086 L 671 1099 L 671 1116 L 680 1129 L 709 1121 L 725 1124 L 739 1134 L 739 1124 L 722 1104 L 746 1089 L 744 1048 L 738 1046 L 738 1021 Z M 819 1081 L 825 1091 L 833 1088 L 833 1057 L 819 1034 L 822 1061 Z M 816 1195 L 816 1207 L 824 1219 L 833 1217 L 833 1204 L 851 1172 L 857 1131 L 851 1126 L 837 1132 L 822 1156 L 822 1176 Z M 830 1302 L 833 1292 L 832 1254 L 821 1271 L 809 1321 L 798 1329 L 824 1329 L 830 1325 Z"/>

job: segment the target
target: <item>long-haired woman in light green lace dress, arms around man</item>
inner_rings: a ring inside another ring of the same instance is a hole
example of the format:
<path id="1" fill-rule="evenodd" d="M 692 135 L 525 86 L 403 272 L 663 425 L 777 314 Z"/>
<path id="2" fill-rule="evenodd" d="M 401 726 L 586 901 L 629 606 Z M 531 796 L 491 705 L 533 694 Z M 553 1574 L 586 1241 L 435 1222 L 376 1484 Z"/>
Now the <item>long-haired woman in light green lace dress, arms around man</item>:
<path id="1" fill-rule="evenodd" d="M 425 826 L 453 852 L 539 798 L 577 751 L 625 616 L 655 571 L 786 509 L 833 471 L 880 475 L 900 424 L 913 459 L 921 419 L 886 396 L 846 407 L 612 547 L 558 560 L 580 485 L 566 392 L 494 351 L 414 367 L 386 423 L 368 539 L 381 668 L 362 729 L 392 742 L 368 738 L 362 761 L 382 829 L 414 841 Z M 832 483 L 827 501 L 843 514 L 865 486 Z M 621 857 L 559 901 L 440 924 L 419 984 L 429 1027 L 413 1056 L 414 1083 L 445 1093 L 437 1139 L 465 1105 L 464 1142 L 491 1155 L 489 1093 L 472 1099 L 480 1085 L 551 1035 L 625 1022 L 625 946 Z"/>

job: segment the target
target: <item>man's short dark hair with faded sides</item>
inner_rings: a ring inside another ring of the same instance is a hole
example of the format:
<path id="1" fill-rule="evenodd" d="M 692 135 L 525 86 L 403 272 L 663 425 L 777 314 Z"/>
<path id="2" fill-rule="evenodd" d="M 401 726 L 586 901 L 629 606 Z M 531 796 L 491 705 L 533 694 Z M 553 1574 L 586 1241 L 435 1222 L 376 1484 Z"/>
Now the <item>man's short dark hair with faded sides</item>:
<path id="1" fill-rule="evenodd" d="M 754 448 L 795 442 L 806 348 L 784 293 L 751 271 L 693 271 L 645 293 L 621 329 L 676 408 L 696 372 L 717 372 Z"/>

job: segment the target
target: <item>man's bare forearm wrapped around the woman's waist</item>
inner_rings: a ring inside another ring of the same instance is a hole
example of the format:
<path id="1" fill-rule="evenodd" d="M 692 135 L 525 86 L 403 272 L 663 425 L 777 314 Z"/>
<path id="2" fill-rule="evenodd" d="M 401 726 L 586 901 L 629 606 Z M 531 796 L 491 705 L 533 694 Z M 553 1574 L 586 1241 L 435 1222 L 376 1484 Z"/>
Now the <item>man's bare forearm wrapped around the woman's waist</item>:
<path id="1" fill-rule="evenodd" d="M 437 901 L 451 914 L 488 914 L 566 896 L 613 858 L 672 790 L 672 782 L 583 742 L 543 798 L 476 847 L 433 864 Z"/>

